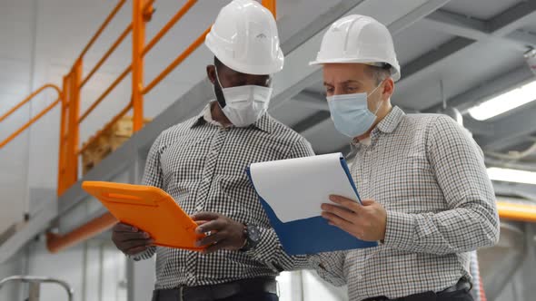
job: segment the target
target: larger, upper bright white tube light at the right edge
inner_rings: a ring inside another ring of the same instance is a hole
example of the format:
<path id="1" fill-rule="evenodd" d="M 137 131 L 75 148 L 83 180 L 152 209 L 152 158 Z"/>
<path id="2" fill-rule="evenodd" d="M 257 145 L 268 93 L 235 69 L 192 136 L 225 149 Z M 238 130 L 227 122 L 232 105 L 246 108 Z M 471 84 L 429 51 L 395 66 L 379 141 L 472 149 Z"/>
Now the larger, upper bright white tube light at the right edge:
<path id="1" fill-rule="evenodd" d="M 477 121 L 484 121 L 532 101 L 536 101 L 536 81 L 482 102 L 469 109 L 469 113 Z"/>

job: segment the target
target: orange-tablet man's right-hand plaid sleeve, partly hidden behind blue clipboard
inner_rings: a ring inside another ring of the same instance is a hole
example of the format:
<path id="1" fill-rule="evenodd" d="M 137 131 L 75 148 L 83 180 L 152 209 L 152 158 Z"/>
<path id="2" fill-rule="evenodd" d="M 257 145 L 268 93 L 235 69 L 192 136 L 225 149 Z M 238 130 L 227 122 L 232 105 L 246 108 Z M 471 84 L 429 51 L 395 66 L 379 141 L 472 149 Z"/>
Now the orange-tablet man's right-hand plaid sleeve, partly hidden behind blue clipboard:
<path id="1" fill-rule="evenodd" d="M 284 159 L 302 158 L 314 156 L 311 144 L 304 138 L 294 143 L 293 148 L 289 151 Z M 266 218 L 267 219 L 267 218 Z M 295 270 L 302 268 L 311 268 L 307 256 L 290 256 L 284 250 L 279 238 L 273 228 L 261 227 L 260 240 L 255 248 L 247 251 L 247 254 L 255 260 L 263 262 L 273 270 Z"/>

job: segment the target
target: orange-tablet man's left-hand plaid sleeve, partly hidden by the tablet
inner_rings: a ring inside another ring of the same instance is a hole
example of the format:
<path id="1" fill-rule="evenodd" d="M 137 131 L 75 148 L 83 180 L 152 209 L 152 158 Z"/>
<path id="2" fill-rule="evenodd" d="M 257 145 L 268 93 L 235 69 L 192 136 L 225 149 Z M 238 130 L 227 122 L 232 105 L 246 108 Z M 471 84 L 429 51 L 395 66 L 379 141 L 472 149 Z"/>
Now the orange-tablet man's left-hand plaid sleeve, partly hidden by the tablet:
<path id="1" fill-rule="evenodd" d="M 159 189 L 164 189 L 164 177 L 162 173 L 162 165 L 160 163 L 160 156 L 162 154 L 162 135 L 158 136 L 156 140 L 153 143 L 153 146 L 151 147 L 151 150 L 149 150 L 149 155 L 147 156 L 147 160 L 145 163 L 145 170 L 144 170 L 144 178 L 142 180 L 142 185 L 145 186 L 154 186 Z M 146 248 L 143 252 L 131 255 L 129 257 L 133 258 L 134 260 L 145 260 L 149 259 L 154 256 L 154 253 L 156 252 L 156 247 L 152 246 L 149 248 Z"/>

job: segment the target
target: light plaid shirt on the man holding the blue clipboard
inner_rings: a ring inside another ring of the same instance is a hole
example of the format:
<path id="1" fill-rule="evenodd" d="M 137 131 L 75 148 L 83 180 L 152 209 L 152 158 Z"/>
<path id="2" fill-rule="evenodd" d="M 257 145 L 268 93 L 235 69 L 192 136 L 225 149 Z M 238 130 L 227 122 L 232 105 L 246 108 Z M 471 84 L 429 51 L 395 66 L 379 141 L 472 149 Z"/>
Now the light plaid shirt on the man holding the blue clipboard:
<path id="1" fill-rule="evenodd" d="M 470 251 L 499 238 L 495 196 L 481 150 L 450 117 L 395 107 L 353 144 L 362 199 L 387 210 L 377 248 L 311 257 L 321 277 L 348 285 L 351 300 L 441 291 L 469 275 Z"/>

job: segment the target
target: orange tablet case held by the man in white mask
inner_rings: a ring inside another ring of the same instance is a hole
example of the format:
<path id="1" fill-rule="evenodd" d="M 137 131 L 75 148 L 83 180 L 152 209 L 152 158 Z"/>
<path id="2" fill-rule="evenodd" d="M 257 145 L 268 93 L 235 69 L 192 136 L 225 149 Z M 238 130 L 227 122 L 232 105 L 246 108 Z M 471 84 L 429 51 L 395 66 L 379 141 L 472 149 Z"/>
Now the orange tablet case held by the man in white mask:
<path id="1" fill-rule="evenodd" d="M 151 235 L 154 245 L 202 250 L 197 224 L 164 190 L 151 186 L 84 181 L 82 188 L 99 199 L 115 218 Z"/>

